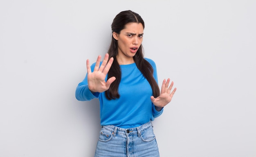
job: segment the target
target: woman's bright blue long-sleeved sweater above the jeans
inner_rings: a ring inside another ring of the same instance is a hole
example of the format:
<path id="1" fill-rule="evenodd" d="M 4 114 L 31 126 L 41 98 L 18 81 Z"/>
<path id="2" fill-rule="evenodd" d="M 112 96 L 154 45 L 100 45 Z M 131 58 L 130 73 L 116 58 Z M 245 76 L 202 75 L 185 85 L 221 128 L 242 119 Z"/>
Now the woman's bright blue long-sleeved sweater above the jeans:
<path id="1" fill-rule="evenodd" d="M 155 62 L 145 58 L 153 67 L 153 76 L 157 81 L 157 70 Z M 91 69 L 94 70 L 95 63 Z M 99 98 L 101 125 L 114 125 L 120 128 L 133 128 L 153 121 L 163 112 L 156 111 L 155 105 L 151 102 L 153 95 L 150 84 L 141 74 L 135 63 L 120 65 L 121 82 L 119 84 L 120 98 L 108 100 L 105 93 L 90 92 L 85 79 L 76 87 L 76 99 L 80 101 Z M 107 79 L 107 77 L 106 77 Z M 158 81 L 157 81 L 158 82 Z"/>

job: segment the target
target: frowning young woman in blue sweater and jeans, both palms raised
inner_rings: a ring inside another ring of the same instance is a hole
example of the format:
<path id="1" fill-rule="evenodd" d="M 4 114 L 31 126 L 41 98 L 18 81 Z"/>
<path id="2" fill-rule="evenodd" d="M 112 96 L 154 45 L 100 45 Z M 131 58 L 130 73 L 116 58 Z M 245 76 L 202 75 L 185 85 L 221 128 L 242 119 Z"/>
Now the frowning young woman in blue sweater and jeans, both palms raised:
<path id="1" fill-rule="evenodd" d="M 161 92 L 155 62 L 144 58 L 144 21 L 122 11 L 112 22 L 112 41 L 103 61 L 98 56 L 76 87 L 77 100 L 99 98 L 101 131 L 95 157 L 159 157 L 151 121 L 160 116 L 176 91 L 164 79 Z"/>

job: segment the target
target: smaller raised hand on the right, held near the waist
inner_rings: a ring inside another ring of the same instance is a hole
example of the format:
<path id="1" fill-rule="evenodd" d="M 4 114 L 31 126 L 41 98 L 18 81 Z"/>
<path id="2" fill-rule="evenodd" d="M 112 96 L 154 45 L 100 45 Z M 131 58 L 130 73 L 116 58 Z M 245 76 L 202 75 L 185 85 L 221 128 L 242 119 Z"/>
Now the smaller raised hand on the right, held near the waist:
<path id="1" fill-rule="evenodd" d="M 173 98 L 173 94 L 175 93 L 176 88 L 174 88 L 173 92 L 171 92 L 171 89 L 173 88 L 173 81 L 171 82 L 170 87 L 168 87 L 169 83 L 170 79 L 167 79 L 167 81 L 164 79 L 160 95 L 157 98 L 154 98 L 154 96 L 150 97 L 157 111 L 161 111 L 161 109 L 169 102 L 171 102 Z"/>

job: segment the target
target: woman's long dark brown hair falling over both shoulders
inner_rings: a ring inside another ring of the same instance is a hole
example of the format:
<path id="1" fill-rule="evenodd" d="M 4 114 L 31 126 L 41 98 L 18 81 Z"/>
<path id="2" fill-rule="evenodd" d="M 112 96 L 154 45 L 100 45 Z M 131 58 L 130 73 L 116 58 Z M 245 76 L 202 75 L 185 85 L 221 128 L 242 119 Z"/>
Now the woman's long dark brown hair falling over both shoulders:
<path id="1" fill-rule="evenodd" d="M 120 31 L 123 30 L 125 25 L 130 22 L 136 22 L 138 24 L 141 23 L 143 28 L 145 28 L 144 21 L 142 20 L 141 16 L 133 11 L 128 10 L 128 11 L 122 11 L 116 15 L 111 25 L 112 33 L 116 32 L 117 34 L 120 34 Z M 118 87 L 121 81 L 121 68 L 116 58 L 118 54 L 117 48 L 118 48 L 117 40 L 112 35 L 112 41 L 108 49 L 108 54 L 109 54 L 109 58 L 111 57 L 114 58 L 114 61 L 108 72 L 108 79 L 112 76 L 115 76 L 116 80 L 110 85 L 110 88 L 105 92 L 106 98 L 108 98 L 108 100 L 120 97 L 118 92 Z M 137 50 L 136 55 L 133 57 L 133 59 L 137 65 L 137 68 L 141 71 L 143 76 L 148 80 L 153 91 L 153 96 L 154 97 L 159 96 L 160 94 L 159 87 L 153 77 L 154 70 L 150 65 L 150 63 L 144 59 L 142 44 Z"/>

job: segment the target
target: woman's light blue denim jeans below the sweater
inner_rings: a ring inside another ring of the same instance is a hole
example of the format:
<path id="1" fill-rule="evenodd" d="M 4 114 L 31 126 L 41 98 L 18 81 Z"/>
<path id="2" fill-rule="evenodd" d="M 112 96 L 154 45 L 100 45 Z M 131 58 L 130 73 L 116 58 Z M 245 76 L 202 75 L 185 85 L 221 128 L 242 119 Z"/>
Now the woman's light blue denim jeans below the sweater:
<path id="1" fill-rule="evenodd" d="M 159 157 L 153 125 L 136 128 L 102 126 L 94 157 Z"/>

